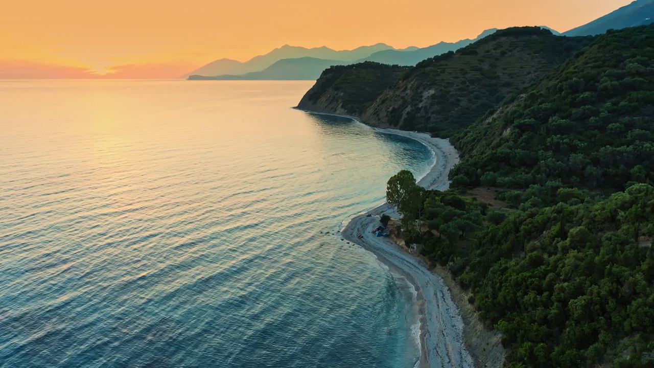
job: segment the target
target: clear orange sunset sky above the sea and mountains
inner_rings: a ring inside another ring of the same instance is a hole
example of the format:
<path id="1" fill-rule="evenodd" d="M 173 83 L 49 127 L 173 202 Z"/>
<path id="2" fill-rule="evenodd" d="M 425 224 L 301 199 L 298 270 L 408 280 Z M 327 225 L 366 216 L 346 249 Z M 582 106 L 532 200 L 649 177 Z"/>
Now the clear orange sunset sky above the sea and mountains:
<path id="1" fill-rule="evenodd" d="M 488 28 L 566 31 L 631 0 L 5 0 L 0 79 L 175 78 L 284 44 L 397 48 Z"/>

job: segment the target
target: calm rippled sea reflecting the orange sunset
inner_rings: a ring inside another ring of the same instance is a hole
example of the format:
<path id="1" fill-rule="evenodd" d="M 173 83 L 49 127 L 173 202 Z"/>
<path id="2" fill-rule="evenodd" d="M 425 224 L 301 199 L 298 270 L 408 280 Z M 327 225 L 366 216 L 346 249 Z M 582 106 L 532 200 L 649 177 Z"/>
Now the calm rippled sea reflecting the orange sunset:
<path id="1" fill-rule="evenodd" d="M 311 84 L 0 81 L 0 367 L 412 367 L 410 287 L 336 231 L 432 153 Z"/>

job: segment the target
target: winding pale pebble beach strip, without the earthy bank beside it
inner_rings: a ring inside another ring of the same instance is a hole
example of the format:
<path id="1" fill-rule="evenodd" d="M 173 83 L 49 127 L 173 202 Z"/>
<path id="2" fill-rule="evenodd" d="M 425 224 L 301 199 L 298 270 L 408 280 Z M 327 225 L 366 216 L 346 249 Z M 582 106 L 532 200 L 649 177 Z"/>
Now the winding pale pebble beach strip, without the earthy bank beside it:
<path id="1" fill-rule="evenodd" d="M 360 122 L 356 117 L 346 115 L 307 112 L 347 117 Z M 418 184 L 439 191 L 449 188 L 447 173 L 458 163 L 459 156 L 447 139 L 432 138 L 428 134 L 404 130 L 375 129 L 379 132 L 415 139 L 425 145 L 434 153 L 434 162 L 428 172 L 419 179 Z M 385 202 L 353 217 L 341 230 L 341 235 L 373 253 L 392 272 L 406 278 L 415 288 L 420 322 L 421 356 L 418 366 L 421 368 L 475 367 L 475 359 L 466 348 L 464 322 L 459 306 L 455 303 L 443 278 L 434 274 L 421 259 L 410 255 L 389 238 L 374 236 L 372 230 L 379 225 L 379 216 L 383 213 L 391 217 L 400 217 L 394 208 Z"/>

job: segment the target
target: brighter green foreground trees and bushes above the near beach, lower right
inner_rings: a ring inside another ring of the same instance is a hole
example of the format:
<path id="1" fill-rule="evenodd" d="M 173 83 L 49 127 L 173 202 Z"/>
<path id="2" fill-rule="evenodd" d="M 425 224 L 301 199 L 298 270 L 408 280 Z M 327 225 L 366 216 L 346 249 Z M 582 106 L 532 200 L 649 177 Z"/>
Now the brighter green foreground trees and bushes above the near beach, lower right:
<path id="1" fill-rule="evenodd" d="M 596 203 L 559 188 L 557 205 L 528 211 L 405 192 L 403 236 L 472 289 L 509 367 L 654 363 L 654 187 Z"/>

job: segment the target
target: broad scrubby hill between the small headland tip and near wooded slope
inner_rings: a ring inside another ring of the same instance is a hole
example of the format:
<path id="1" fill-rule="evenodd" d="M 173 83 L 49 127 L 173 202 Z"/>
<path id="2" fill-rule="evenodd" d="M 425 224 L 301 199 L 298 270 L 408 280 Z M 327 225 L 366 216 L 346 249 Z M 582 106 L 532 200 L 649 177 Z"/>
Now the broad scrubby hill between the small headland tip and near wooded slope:
<path id="1" fill-rule="evenodd" d="M 417 64 L 377 100 L 387 99 L 383 104 L 390 106 L 380 119 L 406 130 L 447 136 L 448 130 L 472 124 L 590 42 L 591 37 L 558 37 L 538 27 L 501 29 L 457 52 Z M 372 109 L 365 117 L 373 115 Z"/>

